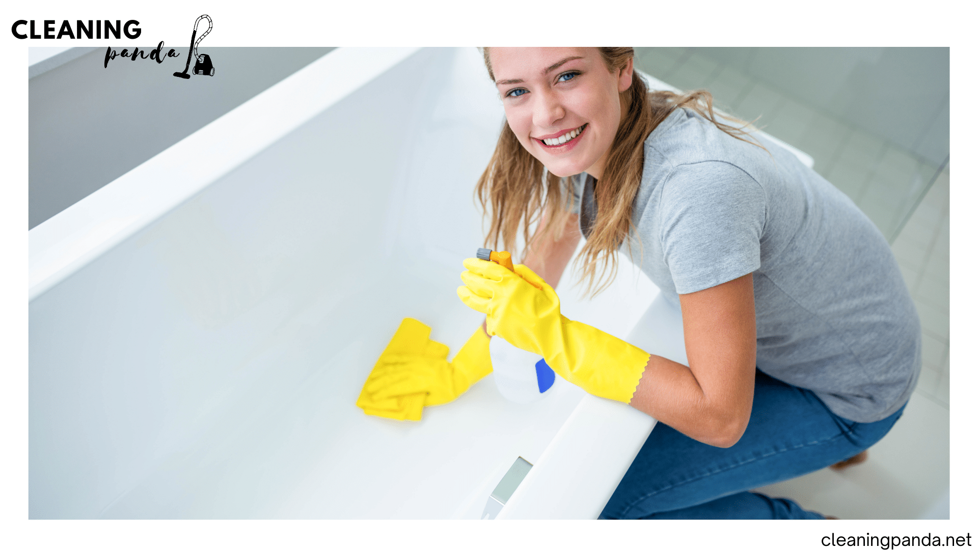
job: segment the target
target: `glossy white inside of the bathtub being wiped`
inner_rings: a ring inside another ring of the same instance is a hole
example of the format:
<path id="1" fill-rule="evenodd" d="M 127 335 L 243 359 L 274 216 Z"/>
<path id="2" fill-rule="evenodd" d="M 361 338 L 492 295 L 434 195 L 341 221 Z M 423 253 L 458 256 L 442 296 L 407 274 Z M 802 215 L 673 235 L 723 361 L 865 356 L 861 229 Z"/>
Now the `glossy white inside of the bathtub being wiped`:
<path id="1" fill-rule="evenodd" d="M 502 119 L 475 49 L 421 50 L 34 298 L 30 518 L 477 518 L 582 390 L 354 401 L 403 317 L 452 353 L 480 324 L 455 289 Z M 565 314 L 624 338 L 658 291 L 623 273 L 565 276 Z"/>

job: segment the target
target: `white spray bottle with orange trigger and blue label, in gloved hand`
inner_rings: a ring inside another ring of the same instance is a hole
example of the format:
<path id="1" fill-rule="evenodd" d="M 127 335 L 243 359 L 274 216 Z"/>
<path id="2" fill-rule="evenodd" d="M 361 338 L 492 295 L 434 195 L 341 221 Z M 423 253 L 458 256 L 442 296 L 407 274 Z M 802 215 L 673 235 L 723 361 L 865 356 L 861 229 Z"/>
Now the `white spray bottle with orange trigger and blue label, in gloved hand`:
<path id="1" fill-rule="evenodd" d="M 510 252 L 479 249 L 475 257 L 494 261 L 512 271 Z M 554 386 L 554 371 L 543 357 L 520 349 L 501 337 L 489 341 L 489 357 L 496 388 L 513 402 L 535 401 Z"/>

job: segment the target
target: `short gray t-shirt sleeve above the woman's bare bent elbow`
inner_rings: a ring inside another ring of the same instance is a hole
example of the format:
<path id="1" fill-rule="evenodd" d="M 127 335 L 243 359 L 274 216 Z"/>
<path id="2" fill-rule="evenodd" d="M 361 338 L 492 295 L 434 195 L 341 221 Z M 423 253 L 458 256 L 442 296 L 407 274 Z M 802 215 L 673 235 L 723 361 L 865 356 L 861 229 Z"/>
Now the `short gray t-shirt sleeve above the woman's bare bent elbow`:
<path id="1" fill-rule="evenodd" d="M 729 162 L 677 166 L 664 182 L 659 239 L 677 294 L 733 281 L 761 267 L 767 196 Z"/>

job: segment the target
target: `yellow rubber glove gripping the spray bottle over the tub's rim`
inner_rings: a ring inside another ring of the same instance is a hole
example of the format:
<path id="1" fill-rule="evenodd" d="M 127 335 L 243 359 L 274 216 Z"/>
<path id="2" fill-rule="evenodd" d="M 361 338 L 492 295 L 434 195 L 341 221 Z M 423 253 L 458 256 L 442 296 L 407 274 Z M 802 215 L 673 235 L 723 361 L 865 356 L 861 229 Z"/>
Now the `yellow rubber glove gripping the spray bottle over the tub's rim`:
<path id="1" fill-rule="evenodd" d="M 556 374 L 599 397 L 628 403 L 649 354 L 560 314 L 560 299 L 525 265 L 509 269 L 467 258 L 459 298 L 486 314 L 486 329 L 521 349 L 543 355 Z M 536 288 L 538 287 L 539 288 Z"/>

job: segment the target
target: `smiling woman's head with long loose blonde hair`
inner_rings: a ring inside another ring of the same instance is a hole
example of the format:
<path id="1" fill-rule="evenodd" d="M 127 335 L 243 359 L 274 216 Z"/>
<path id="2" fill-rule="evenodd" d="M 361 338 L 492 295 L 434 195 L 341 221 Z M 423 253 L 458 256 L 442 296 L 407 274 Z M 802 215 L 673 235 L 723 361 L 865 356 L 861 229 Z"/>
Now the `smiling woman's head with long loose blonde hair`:
<path id="1" fill-rule="evenodd" d="M 597 278 L 600 291 L 616 272 L 617 257 L 610 252 L 625 241 L 630 229 L 631 205 L 642 180 L 642 143 L 652 128 L 677 107 L 685 107 L 737 139 L 747 133 L 740 127 L 743 122 L 735 118 L 729 121 L 737 125 L 718 120 L 706 92 L 648 93 L 642 78 L 633 77 L 632 48 L 571 49 L 574 51 L 554 63 L 550 63 L 555 57 L 550 49 L 521 50 L 491 50 L 497 67 L 526 72 L 525 78 L 510 78 L 493 69 L 490 49 L 483 48 L 486 68 L 507 115 L 493 158 L 476 186 L 482 205 L 489 204 L 493 212 L 486 242 L 495 245 L 502 240 L 507 249 L 513 249 L 520 222 L 524 240 L 529 242 L 535 214 L 545 211 L 544 233 L 565 225 L 568 210 L 559 198 L 567 189 L 561 188 L 560 178 L 587 172 L 605 182 L 595 190 L 596 200 L 611 212 L 594 220 L 581 252 L 589 287 L 595 287 Z M 539 59 L 548 55 L 547 60 Z M 531 69 L 533 63 L 543 69 Z M 620 69 L 612 69 L 615 67 Z M 576 136 L 572 135 L 575 131 Z M 608 177 L 602 178 L 605 170 Z M 544 189 L 538 183 L 545 172 Z M 599 272 L 610 272 L 609 277 Z"/>

